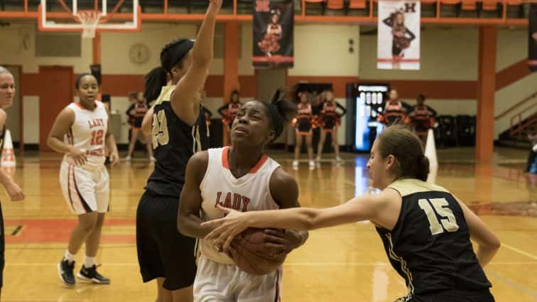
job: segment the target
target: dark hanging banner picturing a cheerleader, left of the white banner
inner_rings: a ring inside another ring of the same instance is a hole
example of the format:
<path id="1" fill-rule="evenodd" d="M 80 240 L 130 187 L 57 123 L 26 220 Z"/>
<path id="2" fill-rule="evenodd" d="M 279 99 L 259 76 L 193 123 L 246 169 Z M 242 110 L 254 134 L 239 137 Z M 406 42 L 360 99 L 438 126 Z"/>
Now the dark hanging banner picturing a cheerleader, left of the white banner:
<path id="1" fill-rule="evenodd" d="M 293 0 L 254 2 L 254 68 L 293 67 Z"/>

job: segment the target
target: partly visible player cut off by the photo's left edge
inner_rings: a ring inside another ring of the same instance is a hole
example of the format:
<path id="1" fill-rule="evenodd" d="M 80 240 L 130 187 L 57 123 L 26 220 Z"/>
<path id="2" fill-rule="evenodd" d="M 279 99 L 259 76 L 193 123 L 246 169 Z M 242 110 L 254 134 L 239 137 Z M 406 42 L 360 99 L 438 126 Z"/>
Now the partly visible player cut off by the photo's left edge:
<path id="1" fill-rule="evenodd" d="M 15 98 L 15 80 L 13 75 L 6 68 L 0 66 L 0 150 L 4 148 L 4 135 L 6 134 L 6 119 L 7 114 L 4 111 L 7 107 L 13 104 Z M 0 169 L 0 183 L 4 185 L 6 193 L 12 201 L 19 201 L 24 199 L 24 194 L 21 188 L 18 187 L 13 180 Z M 6 242 L 4 238 L 4 215 L 2 214 L 2 207 L 0 204 L 0 297 L 1 289 L 4 286 L 4 251 Z"/>

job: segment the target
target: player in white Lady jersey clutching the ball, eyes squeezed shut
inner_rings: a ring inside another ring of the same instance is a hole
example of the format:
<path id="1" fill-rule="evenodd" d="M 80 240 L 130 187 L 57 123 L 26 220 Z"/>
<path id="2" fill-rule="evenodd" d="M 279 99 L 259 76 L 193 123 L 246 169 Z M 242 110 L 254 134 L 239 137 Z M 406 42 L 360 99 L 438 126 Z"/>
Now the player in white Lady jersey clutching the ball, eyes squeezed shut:
<path id="1" fill-rule="evenodd" d="M 295 105 L 280 100 L 279 95 L 278 91 L 271 103 L 251 101 L 242 106 L 232 125 L 231 147 L 198 152 L 190 158 L 180 199 L 180 232 L 205 237 L 211 228 L 201 223 L 223 215 L 217 205 L 244 212 L 300 207 L 295 180 L 264 154 L 265 146 L 280 136 L 284 124 L 296 114 Z M 307 232 L 266 230 L 266 247 L 291 252 L 307 238 Z M 196 302 L 280 301 L 281 269 L 261 276 L 248 274 L 207 240 L 201 241 L 200 252 Z"/>

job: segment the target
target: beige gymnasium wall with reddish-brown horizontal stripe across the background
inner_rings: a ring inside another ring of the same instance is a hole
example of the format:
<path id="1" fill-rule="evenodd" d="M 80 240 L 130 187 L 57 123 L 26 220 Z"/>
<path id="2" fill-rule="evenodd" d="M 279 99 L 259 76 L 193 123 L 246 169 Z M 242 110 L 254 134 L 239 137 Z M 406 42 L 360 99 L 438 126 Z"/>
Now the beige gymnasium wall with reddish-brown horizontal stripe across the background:
<path id="1" fill-rule="evenodd" d="M 140 33 L 102 34 L 103 91 L 112 94 L 112 107 L 121 113 L 123 122 L 123 112 L 129 106 L 127 93 L 143 89 L 143 75 L 158 65 L 162 45 L 178 36 L 194 38 L 197 26 L 197 23 L 149 23 L 143 24 Z M 239 88 L 242 96 L 248 99 L 257 96 L 255 70 L 251 67 L 251 23 L 242 23 L 239 28 Z M 215 115 L 217 107 L 222 104 L 223 29 L 222 24 L 217 26 L 215 60 L 206 85 L 207 102 Z M 429 104 L 440 114 L 475 114 L 478 28 L 424 28 L 421 70 L 418 71 L 377 70 L 376 35 L 360 36 L 360 29 L 355 25 L 295 26 L 295 67 L 288 70 L 287 84 L 293 85 L 300 80 L 332 82 L 338 101 L 345 104 L 347 82 L 390 82 L 399 90 L 401 97 L 411 103 L 418 93 L 425 93 L 429 97 Z M 72 65 L 76 73 L 88 71 L 92 62 L 91 41 L 82 39 L 80 58 L 36 58 L 35 35 L 36 28 L 32 23 L 12 23 L 11 27 L 0 29 L 0 64 L 21 65 L 23 85 L 39 85 L 36 74 L 39 65 Z M 354 41 L 354 53 L 349 52 L 349 39 Z M 146 63 L 134 64 L 129 60 L 129 48 L 135 43 L 148 46 L 150 57 Z M 501 77 L 498 82 L 502 83 L 502 87 L 497 91 L 497 114 L 535 92 L 536 75 L 527 75 L 525 67 L 520 64 L 518 69 L 513 67 L 526 58 L 526 51 L 526 29 L 499 29 L 497 70 L 498 77 Z M 24 90 L 24 87 L 19 90 L 23 109 L 38 108 L 39 99 L 35 93 L 25 95 Z M 507 119 L 497 122 L 496 134 L 506 129 L 506 121 L 509 122 Z M 23 133 L 38 133 L 36 126 L 38 123 L 35 121 L 24 119 Z M 128 127 L 124 124 L 122 136 L 118 138 L 120 143 L 126 143 L 126 129 Z M 343 142 L 344 129 L 340 131 L 340 136 Z M 25 135 L 26 144 L 36 144 L 37 139 Z"/>

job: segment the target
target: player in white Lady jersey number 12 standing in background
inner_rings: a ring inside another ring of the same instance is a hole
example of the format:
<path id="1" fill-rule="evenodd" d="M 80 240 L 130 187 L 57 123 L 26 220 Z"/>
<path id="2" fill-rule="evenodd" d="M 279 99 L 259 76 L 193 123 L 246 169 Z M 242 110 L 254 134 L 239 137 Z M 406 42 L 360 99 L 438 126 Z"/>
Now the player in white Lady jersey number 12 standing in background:
<path id="1" fill-rule="evenodd" d="M 75 285 L 75 254 L 86 244 L 86 258 L 77 277 L 94 284 L 109 284 L 110 279 L 97 272 L 97 249 L 104 214 L 108 210 L 109 176 L 104 166 L 104 146 L 114 165 L 119 156 L 112 135 L 109 113 L 97 101 L 97 79 L 89 73 L 77 78 L 75 87 L 80 102 L 73 102 L 58 114 L 48 135 L 48 146 L 65 153 L 60 167 L 60 185 L 70 210 L 78 216 L 65 256 L 58 264 L 60 279 Z"/>

